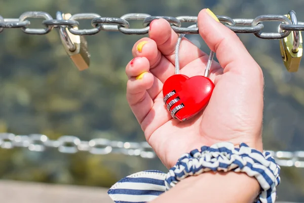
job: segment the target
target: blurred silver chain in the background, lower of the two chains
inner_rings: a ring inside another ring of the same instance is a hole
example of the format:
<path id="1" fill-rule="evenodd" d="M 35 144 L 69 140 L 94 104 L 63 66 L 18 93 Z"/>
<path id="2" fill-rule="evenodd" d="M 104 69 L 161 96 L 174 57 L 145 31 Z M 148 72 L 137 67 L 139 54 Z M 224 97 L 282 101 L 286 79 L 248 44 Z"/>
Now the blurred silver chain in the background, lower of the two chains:
<path id="1" fill-rule="evenodd" d="M 81 141 L 75 136 L 62 136 L 57 140 L 49 140 L 44 134 L 16 135 L 0 133 L 0 149 L 27 148 L 30 151 L 43 152 L 47 148 L 57 149 L 61 153 L 74 154 L 80 151 L 91 154 L 124 154 L 155 158 L 153 149 L 147 142 L 121 142 L 97 138 Z M 304 167 L 304 151 L 269 151 L 280 166 Z"/>

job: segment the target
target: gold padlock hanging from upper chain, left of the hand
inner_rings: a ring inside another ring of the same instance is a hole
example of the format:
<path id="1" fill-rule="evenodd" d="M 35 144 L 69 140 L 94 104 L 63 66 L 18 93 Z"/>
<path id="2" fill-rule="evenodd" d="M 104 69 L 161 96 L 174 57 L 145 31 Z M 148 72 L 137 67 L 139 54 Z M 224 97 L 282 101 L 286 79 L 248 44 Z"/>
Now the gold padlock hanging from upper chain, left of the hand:
<path id="1" fill-rule="evenodd" d="M 57 19 L 68 20 L 71 14 L 62 14 L 57 12 Z M 78 29 L 77 27 L 73 27 Z M 88 51 L 88 43 L 84 36 L 73 35 L 67 27 L 59 28 L 59 35 L 63 47 L 69 57 L 72 59 L 79 71 L 88 69 L 90 65 L 90 53 Z"/>

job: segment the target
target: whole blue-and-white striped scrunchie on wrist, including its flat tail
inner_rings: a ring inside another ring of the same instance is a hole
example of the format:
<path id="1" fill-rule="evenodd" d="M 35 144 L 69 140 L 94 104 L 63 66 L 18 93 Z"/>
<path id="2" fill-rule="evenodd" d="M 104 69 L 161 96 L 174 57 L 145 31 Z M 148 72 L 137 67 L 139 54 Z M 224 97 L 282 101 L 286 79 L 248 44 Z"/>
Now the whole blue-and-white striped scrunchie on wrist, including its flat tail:
<path id="1" fill-rule="evenodd" d="M 260 203 L 276 200 L 276 186 L 280 184 L 280 166 L 269 152 L 259 152 L 241 143 L 217 143 L 183 154 L 168 174 L 160 171 L 144 171 L 130 175 L 113 185 L 108 194 L 117 203 L 149 202 L 174 187 L 188 176 L 208 171 L 234 171 L 255 177 L 261 186 L 257 199 Z"/>

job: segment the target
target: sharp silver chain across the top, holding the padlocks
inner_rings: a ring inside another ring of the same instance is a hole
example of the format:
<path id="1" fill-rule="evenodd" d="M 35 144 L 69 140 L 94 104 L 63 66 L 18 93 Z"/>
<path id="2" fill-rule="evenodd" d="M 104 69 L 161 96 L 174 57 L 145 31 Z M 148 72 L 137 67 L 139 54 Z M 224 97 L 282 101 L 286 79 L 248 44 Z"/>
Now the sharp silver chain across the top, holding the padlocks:
<path id="1" fill-rule="evenodd" d="M 287 37 L 293 30 L 304 30 L 304 22 L 297 21 L 297 24 L 292 22 L 284 15 L 261 15 L 254 19 L 232 19 L 228 16 L 217 16 L 219 21 L 225 26 L 229 27 L 236 33 L 253 33 L 256 37 L 261 39 L 282 39 Z M 29 18 L 42 18 L 42 24 L 45 28 L 29 28 Z M 149 23 L 155 19 L 163 18 L 171 23 L 172 29 L 176 33 L 184 34 L 198 34 L 198 27 L 182 27 L 181 24 L 197 23 L 196 16 L 150 16 L 145 13 L 128 13 L 116 17 L 101 17 L 95 13 L 79 13 L 72 15 L 68 20 L 53 19 L 52 16 L 46 12 L 29 11 L 20 15 L 19 18 L 3 18 L 0 15 L 0 32 L 5 28 L 21 28 L 27 34 L 45 35 L 49 33 L 54 27 L 68 27 L 69 31 L 74 35 L 95 35 L 101 30 L 104 31 L 120 31 L 126 35 L 145 35 L 149 31 Z M 81 23 L 78 20 L 92 20 L 91 29 L 79 29 Z M 143 21 L 142 28 L 130 28 L 130 20 Z M 279 32 L 263 32 L 264 21 L 278 21 L 280 22 Z"/>

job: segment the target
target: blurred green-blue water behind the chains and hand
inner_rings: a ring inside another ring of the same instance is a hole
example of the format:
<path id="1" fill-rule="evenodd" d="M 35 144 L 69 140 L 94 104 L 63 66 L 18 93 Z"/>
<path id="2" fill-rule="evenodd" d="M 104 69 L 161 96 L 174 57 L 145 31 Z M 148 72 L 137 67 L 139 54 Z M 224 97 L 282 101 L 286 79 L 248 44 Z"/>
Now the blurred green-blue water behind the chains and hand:
<path id="1" fill-rule="evenodd" d="M 232 18 L 284 15 L 294 10 L 298 20 L 304 21 L 302 0 L 0 0 L 0 15 L 4 18 L 19 18 L 26 11 L 44 11 L 53 18 L 57 11 L 97 13 L 103 17 L 120 17 L 126 13 L 197 16 L 203 8 Z M 43 19 L 29 20 L 31 28 L 43 28 Z M 131 22 L 131 27 L 140 28 L 141 23 Z M 91 28 L 90 20 L 80 24 L 81 29 Z M 264 25 L 263 31 L 276 32 L 279 23 Z M 288 73 L 278 40 L 262 40 L 252 34 L 239 36 L 261 65 L 265 77 L 264 148 L 304 150 L 304 62 L 297 73 Z M 52 140 L 68 134 L 85 141 L 93 138 L 145 141 L 125 99 L 125 65 L 132 58 L 133 44 L 141 37 L 145 36 L 109 31 L 86 36 L 91 65 L 79 72 L 61 44 L 58 29 L 42 36 L 5 29 L 0 33 L 0 132 L 42 133 Z M 198 35 L 186 37 L 209 52 Z M 166 169 L 157 158 L 87 152 L 63 154 L 55 149 L 44 152 L 0 149 L 2 184 L 15 180 L 101 189 L 142 170 Z M 304 168 L 282 167 L 278 200 L 304 202 L 303 181 Z"/>

